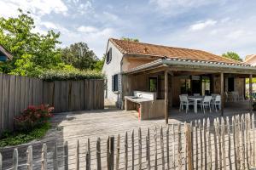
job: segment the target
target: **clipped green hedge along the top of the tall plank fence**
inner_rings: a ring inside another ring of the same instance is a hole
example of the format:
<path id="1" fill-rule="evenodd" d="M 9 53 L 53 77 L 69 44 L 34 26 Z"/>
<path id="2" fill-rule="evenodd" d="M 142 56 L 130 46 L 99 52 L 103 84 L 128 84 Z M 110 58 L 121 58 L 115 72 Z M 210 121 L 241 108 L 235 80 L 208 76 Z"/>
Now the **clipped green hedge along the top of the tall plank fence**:
<path id="1" fill-rule="evenodd" d="M 50 70 L 44 71 L 39 76 L 44 81 L 61 81 L 61 80 L 84 80 L 84 79 L 102 79 L 104 75 L 99 71 L 79 71 L 73 70 Z"/>

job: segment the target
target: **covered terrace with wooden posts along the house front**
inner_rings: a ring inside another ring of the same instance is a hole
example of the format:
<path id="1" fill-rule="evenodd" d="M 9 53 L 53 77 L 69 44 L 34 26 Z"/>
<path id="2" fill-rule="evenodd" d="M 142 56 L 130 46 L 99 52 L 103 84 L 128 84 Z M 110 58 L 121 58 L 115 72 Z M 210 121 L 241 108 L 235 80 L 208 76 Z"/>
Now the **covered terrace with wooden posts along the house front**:
<path id="1" fill-rule="evenodd" d="M 252 111 L 252 83 L 249 86 L 247 99 L 245 79 L 249 78 L 252 82 L 254 75 L 256 75 L 256 68 L 251 65 L 163 57 L 123 71 L 124 83 L 121 96 L 124 99 L 123 106 L 127 110 L 125 96 L 133 96 L 135 91 L 153 93 L 154 101 L 138 106 L 139 116 L 145 119 L 165 117 L 168 123 L 168 117 L 172 118 L 172 115 L 177 113 L 180 103 L 179 95 L 219 94 L 221 96 L 219 112 L 224 116 L 225 108 L 233 107 L 228 104 L 230 101 L 237 105 L 241 105 L 239 102 L 242 101 L 247 105 L 247 108 L 244 105 L 242 108 L 245 111 Z M 231 92 L 236 92 L 236 96 L 230 96 Z"/>

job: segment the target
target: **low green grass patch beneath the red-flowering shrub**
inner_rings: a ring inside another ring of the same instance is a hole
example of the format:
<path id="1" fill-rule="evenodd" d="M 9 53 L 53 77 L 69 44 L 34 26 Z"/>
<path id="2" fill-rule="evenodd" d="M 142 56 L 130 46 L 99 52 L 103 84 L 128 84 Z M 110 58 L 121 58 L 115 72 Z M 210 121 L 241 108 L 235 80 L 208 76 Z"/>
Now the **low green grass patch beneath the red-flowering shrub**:
<path id="1" fill-rule="evenodd" d="M 0 139 L 0 148 L 8 145 L 24 144 L 33 139 L 41 139 L 50 128 L 50 123 L 47 122 L 41 127 L 32 129 L 31 132 L 16 132 L 4 133 L 3 139 Z"/>

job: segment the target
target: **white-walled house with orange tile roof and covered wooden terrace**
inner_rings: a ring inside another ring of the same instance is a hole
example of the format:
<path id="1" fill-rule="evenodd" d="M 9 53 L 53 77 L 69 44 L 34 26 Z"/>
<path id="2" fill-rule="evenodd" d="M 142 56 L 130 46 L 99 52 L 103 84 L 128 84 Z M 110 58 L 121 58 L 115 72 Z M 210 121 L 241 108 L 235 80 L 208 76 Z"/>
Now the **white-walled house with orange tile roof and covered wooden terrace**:
<path id="1" fill-rule="evenodd" d="M 224 92 L 236 91 L 244 99 L 245 78 L 256 74 L 251 65 L 202 50 L 113 38 L 108 40 L 102 71 L 107 77 L 106 99 L 125 108 L 130 107 L 125 96 L 148 93 L 155 98 L 147 104 L 150 111 L 163 111 L 154 117 L 168 117 L 170 109 L 179 105 L 180 94 L 221 94 L 223 102 Z"/>

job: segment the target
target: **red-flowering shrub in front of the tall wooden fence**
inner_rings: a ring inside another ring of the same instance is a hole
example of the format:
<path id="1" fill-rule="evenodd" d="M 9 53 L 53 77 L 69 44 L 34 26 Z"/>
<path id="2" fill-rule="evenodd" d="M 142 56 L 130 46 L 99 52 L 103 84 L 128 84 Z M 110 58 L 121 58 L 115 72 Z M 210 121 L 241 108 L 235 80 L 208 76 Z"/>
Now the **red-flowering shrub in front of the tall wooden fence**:
<path id="1" fill-rule="evenodd" d="M 24 110 L 20 116 L 15 116 L 15 128 L 20 131 L 31 130 L 49 121 L 53 116 L 53 107 L 49 105 L 30 105 Z"/>

